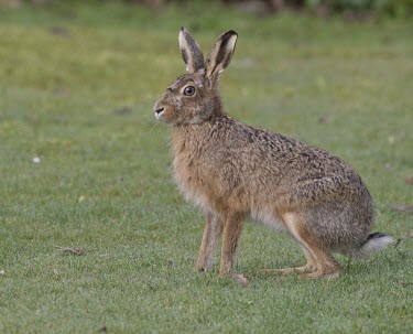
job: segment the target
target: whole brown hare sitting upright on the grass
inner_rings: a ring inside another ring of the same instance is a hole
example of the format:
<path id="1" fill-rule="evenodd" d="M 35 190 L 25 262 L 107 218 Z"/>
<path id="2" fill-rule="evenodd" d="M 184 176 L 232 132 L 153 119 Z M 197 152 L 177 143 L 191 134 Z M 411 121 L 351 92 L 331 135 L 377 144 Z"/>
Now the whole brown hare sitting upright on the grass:
<path id="1" fill-rule="evenodd" d="M 210 269 L 222 234 L 219 273 L 232 276 L 242 223 L 249 217 L 290 234 L 307 260 L 303 267 L 267 271 L 336 277 L 340 267 L 332 252 L 365 257 L 393 239 L 370 234 L 370 193 L 341 159 L 224 112 L 218 78 L 231 61 L 237 36 L 233 31 L 221 34 L 204 61 L 199 45 L 182 28 L 178 41 L 187 74 L 154 106 L 155 117 L 173 126 L 176 183 L 206 213 L 197 269 Z"/>

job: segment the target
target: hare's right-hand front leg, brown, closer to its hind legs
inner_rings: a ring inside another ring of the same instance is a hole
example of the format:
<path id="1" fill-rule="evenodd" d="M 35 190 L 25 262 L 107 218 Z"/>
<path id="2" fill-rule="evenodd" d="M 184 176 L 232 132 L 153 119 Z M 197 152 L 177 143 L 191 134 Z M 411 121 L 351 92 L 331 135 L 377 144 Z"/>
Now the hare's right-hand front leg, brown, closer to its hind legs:
<path id="1" fill-rule="evenodd" d="M 238 240 L 242 231 L 243 216 L 237 213 L 225 217 L 220 276 L 232 276 Z"/>

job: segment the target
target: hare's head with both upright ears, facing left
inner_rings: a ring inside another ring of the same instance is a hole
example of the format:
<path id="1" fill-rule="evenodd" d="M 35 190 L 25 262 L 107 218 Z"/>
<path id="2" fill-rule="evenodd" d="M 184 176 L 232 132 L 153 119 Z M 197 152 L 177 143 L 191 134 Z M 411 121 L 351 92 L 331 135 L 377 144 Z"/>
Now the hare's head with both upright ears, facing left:
<path id="1" fill-rule="evenodd" d="M 237 33 L 228 31 L 218 37 L 204 62 L 198 43 L 182 28 L 180 47 L 187 74 L 170 85 L 153 107 L 159 120 L 174 126 L 199 123 L 222 114 L 218 94 L 218 78 L 229 65 L 237 42 Z"/>

